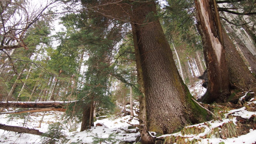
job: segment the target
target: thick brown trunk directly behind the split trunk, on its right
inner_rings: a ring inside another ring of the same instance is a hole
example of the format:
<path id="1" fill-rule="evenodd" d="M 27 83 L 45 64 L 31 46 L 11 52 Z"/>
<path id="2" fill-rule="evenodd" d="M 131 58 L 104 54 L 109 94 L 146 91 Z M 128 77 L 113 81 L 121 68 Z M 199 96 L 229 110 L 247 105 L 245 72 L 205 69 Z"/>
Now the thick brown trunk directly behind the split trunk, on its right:
<path id="1" fill-rule="evenodd" d="M 256 78 L 251 74 L 235 45 L 223 30 L 223 40 L 226 50 L 226 62 L 229 69 L 229 79 L 231 86 L 239 90 L 256 90 Z"/>

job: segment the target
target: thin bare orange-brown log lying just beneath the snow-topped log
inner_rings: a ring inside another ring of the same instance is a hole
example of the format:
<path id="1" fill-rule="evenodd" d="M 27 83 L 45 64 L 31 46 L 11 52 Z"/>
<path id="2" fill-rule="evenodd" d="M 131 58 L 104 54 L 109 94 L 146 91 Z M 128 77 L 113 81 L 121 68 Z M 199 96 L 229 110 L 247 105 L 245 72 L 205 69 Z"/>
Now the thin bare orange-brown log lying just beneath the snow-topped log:
<path id="1" fill-rule="evenodd" d="M 21 111 L 15 111 L 15 112 L 1 112 L 1 114 L 20 114 L 20 113 L 26 113 L 26 112 L 46 112 L 46 111 L 60 111 L 60 112 L 65 112 L 66 109 L 63 108 L 55 108 L 55 107 L 50 107 L 50 108 L 35 108 L 35 109 L 27 109 L 27 110 L 21 110 Z"/>

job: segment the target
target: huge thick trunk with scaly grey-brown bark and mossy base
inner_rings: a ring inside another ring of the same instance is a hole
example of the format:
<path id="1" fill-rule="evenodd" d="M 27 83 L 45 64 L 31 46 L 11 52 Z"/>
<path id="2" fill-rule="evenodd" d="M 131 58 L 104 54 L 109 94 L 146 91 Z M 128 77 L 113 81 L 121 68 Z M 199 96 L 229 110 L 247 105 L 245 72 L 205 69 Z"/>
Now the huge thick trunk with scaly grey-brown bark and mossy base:
<path id="1" fill-rule="evenodd" d="M 186 125 L 205 121 L 207 112 L 192 100 L 187 86 L 176 68 L 172 51 L 156 14 L 153 1 L 134 2 L 133 22 L 145 87 L 147 125 L 149 131 L 172 133 Z M 133 35 L 134 36 L 134 35 Z"/>

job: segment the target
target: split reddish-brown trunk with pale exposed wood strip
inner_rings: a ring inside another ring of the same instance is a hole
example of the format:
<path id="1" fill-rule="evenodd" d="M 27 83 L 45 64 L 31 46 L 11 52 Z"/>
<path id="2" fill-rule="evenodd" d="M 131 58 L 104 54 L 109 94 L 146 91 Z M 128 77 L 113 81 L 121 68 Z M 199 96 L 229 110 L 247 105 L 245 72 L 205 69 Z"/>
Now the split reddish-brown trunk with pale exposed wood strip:
<path id="1" fill-rule="evenodd" d="M 215 0 L 195 0 L 195 8 L 208 72 L 208 87 L 201 101 L 222 102 L 231 92 L 217 4 Z"/>

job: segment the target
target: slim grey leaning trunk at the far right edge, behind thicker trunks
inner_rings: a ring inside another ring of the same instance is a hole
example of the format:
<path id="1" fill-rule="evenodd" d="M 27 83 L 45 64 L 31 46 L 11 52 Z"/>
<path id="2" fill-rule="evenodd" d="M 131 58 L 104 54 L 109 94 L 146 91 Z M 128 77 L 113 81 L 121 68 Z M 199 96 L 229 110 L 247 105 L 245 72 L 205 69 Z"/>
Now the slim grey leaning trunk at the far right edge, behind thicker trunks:
<path id="1" fill-rule="evenodd" d="M 243 52 L 246 60 L 248 61 L 249 65 L 251 66 L 251 71 L 254 74 L 256 74 L 256 57 L 245 46 L 244 42 L 239 37 L 234 35 L 234 30 L 232 29 L 232 27 L 230 25 L 225 25 L 225 28 L 231 33 L 231 35 L 234 38 L 234 40 L 236 41 L 237 45 L 239 46 L 239 48 Z"/>

